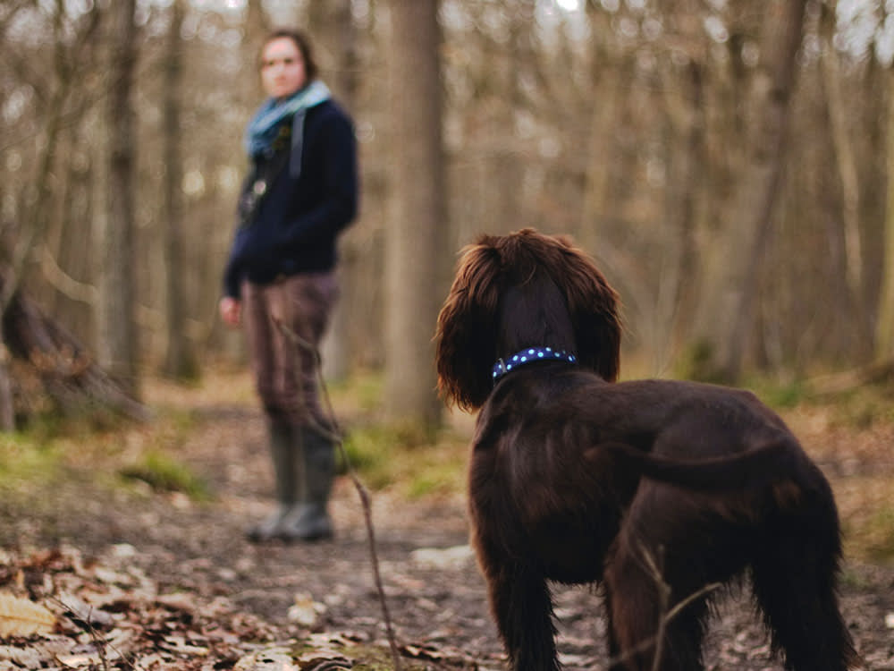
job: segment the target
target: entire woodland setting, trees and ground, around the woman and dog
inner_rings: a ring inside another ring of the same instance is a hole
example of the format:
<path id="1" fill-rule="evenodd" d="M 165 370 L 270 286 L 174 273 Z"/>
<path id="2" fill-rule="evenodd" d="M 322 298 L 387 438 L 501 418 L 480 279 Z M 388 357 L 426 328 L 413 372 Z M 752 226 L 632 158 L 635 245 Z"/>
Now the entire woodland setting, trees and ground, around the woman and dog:
<path id="1" fill-rule="evenodd" d="M 502 667 L 431 339 L 460 248 L 531 225 L 619 290 L 623 378 L 780 410 L 835 490 L 865 668 L 894 669 L 892 0 L 0 0 L 0 428 L 29 429 L 0 431 L 0 596 L 55 622 L 0 668 L 387 667 L 349 479 L 333 543 L 242 535 L 273 476 L 217 302 L 283 24 L 356 122 L 325 374 L 409 668 Z M 596 593 L 555 593 L 566 668 L 607 665 Z M 721 606 L 708 666 L 781 668 Z"/>

